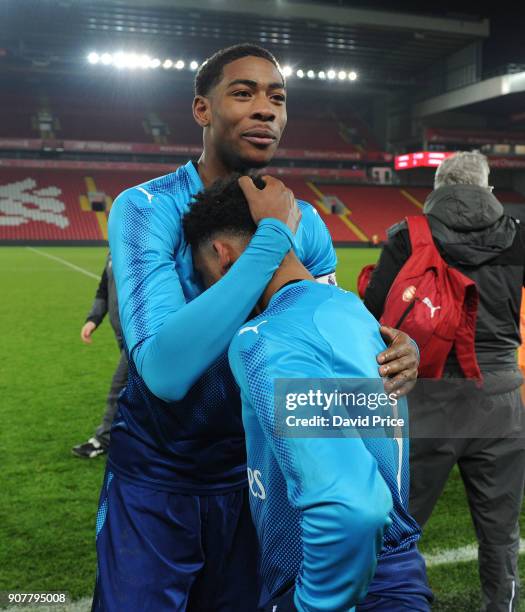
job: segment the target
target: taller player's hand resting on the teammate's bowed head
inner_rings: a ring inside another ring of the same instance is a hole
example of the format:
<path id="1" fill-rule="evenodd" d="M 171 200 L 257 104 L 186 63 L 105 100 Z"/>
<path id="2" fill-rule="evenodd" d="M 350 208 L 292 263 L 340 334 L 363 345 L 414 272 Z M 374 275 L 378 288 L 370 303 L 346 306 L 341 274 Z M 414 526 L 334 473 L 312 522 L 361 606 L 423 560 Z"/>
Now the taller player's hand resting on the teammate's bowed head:
<path id="1" fill-rule="evenodd" d="M 301 211 L 293 192 L 273 176 L 265 175 L 262 179 L 266 183 L 264 189 L 256 187 L 249 176 L 241 176 L 239 179 L 239 186 L 248 200 L 253 220 L 258 225 L 262 219 L 278 219 L 295 234 L 301 220 Z"/>

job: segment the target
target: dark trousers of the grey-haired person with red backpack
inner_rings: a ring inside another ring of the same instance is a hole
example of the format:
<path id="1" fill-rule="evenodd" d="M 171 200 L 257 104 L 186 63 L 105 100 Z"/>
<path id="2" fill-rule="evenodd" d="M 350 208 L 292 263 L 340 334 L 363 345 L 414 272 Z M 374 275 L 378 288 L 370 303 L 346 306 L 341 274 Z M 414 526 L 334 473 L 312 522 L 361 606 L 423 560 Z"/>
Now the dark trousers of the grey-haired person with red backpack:
<path id="1" fill-rule="evenodd" d="M 416 393 L 409 410 L 410 513 L 425 525 L 457 464 L 478 539 L 482 610 L 518 610 L 525 484 L 520 389 L 485 395 L 461 387 L 453 397 L 435 398 Z"/>

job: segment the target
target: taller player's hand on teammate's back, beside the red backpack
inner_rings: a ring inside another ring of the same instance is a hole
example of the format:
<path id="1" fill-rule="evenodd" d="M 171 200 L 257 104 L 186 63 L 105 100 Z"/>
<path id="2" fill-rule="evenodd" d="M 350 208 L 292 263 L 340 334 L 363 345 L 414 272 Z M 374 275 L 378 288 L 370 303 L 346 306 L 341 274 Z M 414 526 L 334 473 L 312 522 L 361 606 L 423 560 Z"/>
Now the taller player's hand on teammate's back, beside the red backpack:
<path id="1" fill-rule="evenodd" d="M 384 341 L 388 344 L 386 351 L 379 353 L 377 363 L 379 374 L 386 377 L 384 381 L 387 393 L 406 395 L 417 381 L 419 353 L 415 344 L 405 332 L 382 325 L 380 328 Z"/>

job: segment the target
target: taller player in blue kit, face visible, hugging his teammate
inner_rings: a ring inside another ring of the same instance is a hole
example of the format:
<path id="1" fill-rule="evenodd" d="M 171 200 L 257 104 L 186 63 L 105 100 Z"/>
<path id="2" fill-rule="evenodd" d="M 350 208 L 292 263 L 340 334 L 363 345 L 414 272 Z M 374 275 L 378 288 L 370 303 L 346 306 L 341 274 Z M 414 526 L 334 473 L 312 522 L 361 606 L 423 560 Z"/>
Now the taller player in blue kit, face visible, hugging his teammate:
<path id="1" fill-rule="evenodd" d="M 321 282 L 334 281 L 336 256 L 313 207 L 297 206 L 277 182 L 251 198 L 258 227 L 234 269 L 203 291 L 181 218 L 218 177 L 268 165 L 286 124 L 286 95 L 265 49 L 219 51 L 195 81 L 199 161 L 113 204 L 109 242 L 130 374 L 97 519 L 95 610 L 256 607 L 244 431 L 226 351 L 290 249 Z M 415 379 L 416 349 L 390 334 L 381 373 L 403 386 Z"/>

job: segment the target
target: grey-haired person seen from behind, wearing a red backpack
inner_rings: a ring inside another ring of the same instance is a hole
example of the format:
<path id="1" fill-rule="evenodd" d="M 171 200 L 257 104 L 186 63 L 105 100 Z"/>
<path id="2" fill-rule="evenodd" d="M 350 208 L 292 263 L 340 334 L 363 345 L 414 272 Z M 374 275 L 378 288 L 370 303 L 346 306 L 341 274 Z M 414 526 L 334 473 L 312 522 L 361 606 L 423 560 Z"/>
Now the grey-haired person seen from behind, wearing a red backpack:
<path id="1" fill-rule="evenodd" d="M 410 512 L 425 525 L 457 464 L 478 537 L 482 610 L 496 612 L 520 600 L 525 229 L 504 214 L 488 176 L 480 153 L 445 159 L 424 215 L 388 231 L 361 285 L 370 275 L 365 305 L 418 342 L 419 376 L 433 379 L 409 397 Z"/>

